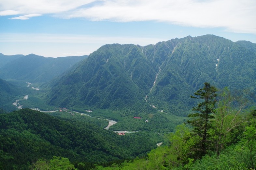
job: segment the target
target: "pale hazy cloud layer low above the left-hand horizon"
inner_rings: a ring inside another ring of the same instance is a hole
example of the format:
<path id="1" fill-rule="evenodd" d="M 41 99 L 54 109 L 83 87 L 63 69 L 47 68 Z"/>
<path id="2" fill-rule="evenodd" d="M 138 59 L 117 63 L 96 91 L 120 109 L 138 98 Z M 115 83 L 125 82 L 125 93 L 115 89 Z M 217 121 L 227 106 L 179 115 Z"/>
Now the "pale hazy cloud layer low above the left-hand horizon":
<path id="1" fill-rule="evenodd" d="M 31 53 L 45 57 L 89 55 L 105 44 L 156 44 L 163 39 L 107 37 L 71 34 L 0 33 L 0 51 L 5 55 Z M 15 47 L 15 48 L 14 48 Z"/>

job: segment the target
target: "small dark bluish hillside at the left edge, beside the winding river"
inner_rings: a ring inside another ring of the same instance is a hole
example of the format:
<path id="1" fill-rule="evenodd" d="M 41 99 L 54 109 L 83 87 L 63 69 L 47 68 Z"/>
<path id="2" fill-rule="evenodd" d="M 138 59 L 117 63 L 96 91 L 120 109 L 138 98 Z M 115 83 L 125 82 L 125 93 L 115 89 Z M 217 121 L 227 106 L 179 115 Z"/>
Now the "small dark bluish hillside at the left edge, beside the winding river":
<path id="1" fill-rule="evenodd" d="M 15 101 L 14 97 L 18 93 L 19 90 L 17 87 L 8 83 L 6 80 L 0 79 L 0 108 L 5 111 L 14 110 L 12 103 Z"/>

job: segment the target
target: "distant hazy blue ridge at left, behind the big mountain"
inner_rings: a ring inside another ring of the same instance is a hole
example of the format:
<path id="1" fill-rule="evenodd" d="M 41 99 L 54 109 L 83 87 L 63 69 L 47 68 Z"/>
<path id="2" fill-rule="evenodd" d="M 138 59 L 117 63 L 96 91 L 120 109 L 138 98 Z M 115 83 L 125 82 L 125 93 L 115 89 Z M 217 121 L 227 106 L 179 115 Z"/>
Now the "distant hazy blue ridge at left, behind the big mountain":
<path id="1" fill-rule="evenodd" d="M 2 79 L 15 79 L 28 82 L 46 82 L 64 73 L 86 57 L 87 55 L 58 58 L 43 57 L 34 54 L 21 56 L 2 66 L 0 68 L 0 77 Z"/>

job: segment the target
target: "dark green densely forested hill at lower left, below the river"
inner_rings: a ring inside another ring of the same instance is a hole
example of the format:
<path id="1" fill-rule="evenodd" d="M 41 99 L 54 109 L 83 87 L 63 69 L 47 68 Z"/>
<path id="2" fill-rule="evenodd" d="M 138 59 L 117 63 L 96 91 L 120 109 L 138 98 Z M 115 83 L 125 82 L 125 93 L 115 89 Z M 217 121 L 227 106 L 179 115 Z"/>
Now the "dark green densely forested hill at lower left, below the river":
<path id="1" fill-rule="evenodd" d="M 38 159 L 54 155 L 102 164 L 133 159 L 156 147 L 143 132 L 119 136 L 94 124 L 64 121 L 30 109 L 0 114 L 0 143 L 0 169 L 28 169 Z"/>

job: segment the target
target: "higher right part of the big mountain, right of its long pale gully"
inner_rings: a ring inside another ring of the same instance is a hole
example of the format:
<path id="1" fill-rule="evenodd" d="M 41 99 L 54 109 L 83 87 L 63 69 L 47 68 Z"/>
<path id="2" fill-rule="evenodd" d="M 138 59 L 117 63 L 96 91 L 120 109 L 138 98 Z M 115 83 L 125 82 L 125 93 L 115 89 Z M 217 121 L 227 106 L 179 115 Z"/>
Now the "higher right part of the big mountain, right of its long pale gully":
<path id="1" fill-rule="evenodd" d="M 148 101 L 158 109 L 182 114 L 181 110 L 192 107 L 189 95 L 206 81 L 220 89 L 228 86 L 254 91 L 253 51 L 213 35 L 170 41 L 177 45 L 160 67 L 155 86 L 148 94 Z"/>

